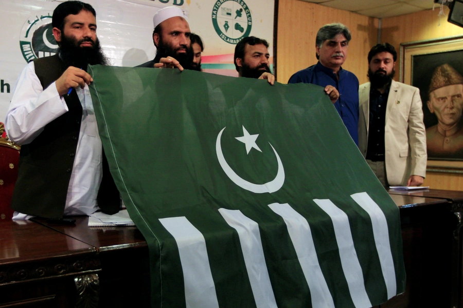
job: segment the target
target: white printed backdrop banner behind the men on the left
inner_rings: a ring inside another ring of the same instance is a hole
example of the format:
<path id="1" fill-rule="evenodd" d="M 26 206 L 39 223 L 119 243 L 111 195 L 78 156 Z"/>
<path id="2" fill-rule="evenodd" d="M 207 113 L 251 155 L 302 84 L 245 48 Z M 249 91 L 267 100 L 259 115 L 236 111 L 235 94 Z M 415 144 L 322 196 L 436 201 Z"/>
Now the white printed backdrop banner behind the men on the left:
<path id="1" fill-rule="evenodd" d="M 0 122 L 5 121 L 13 88 L 29 61 L 56 53 L 53 10 L 64 0 L 2 1 L 0 26 Z M 254 35 L 270 43 L 273 63 L 274 0 L 84 0 L 96 11 L 97 35 L 112 65 L 136 66 L 154 59 L 153 15 L 180 7 L 190 30 L 204 43 L 204 71 L 238 76 L 233 64 L 236 44 Z"/>

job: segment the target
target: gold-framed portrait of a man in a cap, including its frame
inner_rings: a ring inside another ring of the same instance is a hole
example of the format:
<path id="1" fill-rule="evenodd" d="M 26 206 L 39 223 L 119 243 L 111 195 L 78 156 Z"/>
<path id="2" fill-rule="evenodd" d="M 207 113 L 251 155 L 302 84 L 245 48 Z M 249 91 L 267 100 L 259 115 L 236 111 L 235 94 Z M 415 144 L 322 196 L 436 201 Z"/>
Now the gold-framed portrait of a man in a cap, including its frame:
<path id="1" fill-rule="evenodd" d="M 463 161 L 463 35 L 400 44 L 400 82 L 420 89 L 428 159 Z"/>

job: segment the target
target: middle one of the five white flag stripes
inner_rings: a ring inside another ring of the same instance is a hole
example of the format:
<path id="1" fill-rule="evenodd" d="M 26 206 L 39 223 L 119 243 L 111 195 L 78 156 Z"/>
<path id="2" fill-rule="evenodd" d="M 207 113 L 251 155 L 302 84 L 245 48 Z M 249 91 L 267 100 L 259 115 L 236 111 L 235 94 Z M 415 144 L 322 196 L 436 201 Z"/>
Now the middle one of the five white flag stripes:
<path id="1" fill-rule="evenodd" d="M 318 263 L 309 223 L 288 203 L 272 203 L 269 207 L 283 218 L 288 227 L 302 272 L 309 285 L 312 307 L 334 307 L 333 298 Z"/>

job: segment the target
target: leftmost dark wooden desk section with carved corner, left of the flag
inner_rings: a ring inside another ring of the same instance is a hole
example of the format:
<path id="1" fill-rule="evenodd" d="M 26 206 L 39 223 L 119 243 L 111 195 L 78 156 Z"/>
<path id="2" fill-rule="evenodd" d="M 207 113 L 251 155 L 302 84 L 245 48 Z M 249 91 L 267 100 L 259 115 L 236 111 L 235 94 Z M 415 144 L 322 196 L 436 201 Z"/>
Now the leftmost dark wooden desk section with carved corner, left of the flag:
<path id="1" fill-rule="evenodd" d="M 73 307 L 100 271 L 95 247 L 31 221 L 0 222 L 0 247 L 0 307 Z"/>

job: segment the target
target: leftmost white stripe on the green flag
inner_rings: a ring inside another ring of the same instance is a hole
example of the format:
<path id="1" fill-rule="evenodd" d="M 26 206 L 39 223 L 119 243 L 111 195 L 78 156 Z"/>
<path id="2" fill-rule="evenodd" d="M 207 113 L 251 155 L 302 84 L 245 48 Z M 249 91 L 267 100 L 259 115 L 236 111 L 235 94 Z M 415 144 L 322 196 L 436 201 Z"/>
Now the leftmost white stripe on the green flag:
<path id="1" fill-rule="evenodd" d="M 204 236 L 186 217 L 162 218 L 159 221 L 179 247 L 187 308 L 218 308 Z"/>

